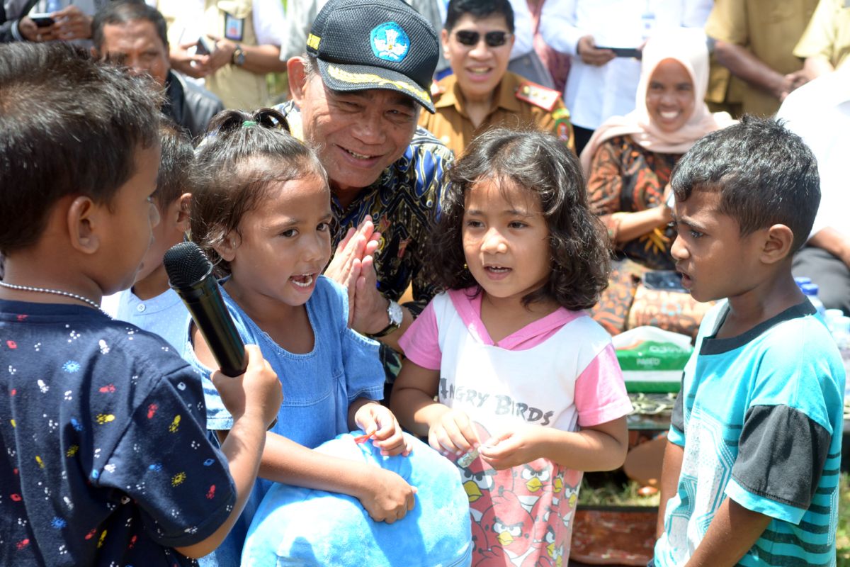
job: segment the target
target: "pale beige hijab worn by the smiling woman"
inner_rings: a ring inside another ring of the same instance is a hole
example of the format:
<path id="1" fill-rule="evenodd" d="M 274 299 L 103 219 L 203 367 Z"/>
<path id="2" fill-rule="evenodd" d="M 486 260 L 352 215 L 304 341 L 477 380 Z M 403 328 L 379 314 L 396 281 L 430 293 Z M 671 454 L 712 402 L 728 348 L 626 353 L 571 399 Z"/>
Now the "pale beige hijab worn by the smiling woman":
<path id="1" fill-rule="evenodd" d="M 694 114 L 676 132 L 665 132 L 649 118 L 646 108 L 646 93 L 649 77 L 663 60 L 672 59 L 681 63 L 694 82 Z M 704 102 L 708 88 L 708 48 L 706 36 L 701 30 L 678 28 L 664 31 L 650 39 L 643 48 L 641 75 L 635 110 L 626 116 L 612 116 L 593 133 L 581 152 L 581 167 L 590 174 L 593 154 L 605 140 L 615 136 L 630 135 L 632 139 L 650 151 L 663 154 L 683 154 L 697 139 L 734 124 L 727 112 L 711 113 Z"/>

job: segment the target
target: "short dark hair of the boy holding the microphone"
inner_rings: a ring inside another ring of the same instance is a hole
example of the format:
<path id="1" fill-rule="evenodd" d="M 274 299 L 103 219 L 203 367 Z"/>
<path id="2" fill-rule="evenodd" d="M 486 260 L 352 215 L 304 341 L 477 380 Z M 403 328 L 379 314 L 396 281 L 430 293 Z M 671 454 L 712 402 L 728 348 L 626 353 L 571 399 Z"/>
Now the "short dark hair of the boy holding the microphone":
<path id="1" fill-rule="evenodd" d="M 150 80 L 64 43 L 0 45 L 0 252 L 35 244 L 64 196 L 111 203 L 159 144 Z"/>

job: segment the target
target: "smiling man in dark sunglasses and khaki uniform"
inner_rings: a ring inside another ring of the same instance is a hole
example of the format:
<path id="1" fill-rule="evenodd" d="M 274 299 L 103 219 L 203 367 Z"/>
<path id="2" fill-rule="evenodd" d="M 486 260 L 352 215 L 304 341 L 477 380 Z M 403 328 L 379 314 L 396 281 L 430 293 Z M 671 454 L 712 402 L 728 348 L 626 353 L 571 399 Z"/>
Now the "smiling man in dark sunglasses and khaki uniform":
<path id="1" fill-rule="evenodd" d="M 427 128 L 459 156 L 489 128 L 538 128 L 570 149 L 570 112 L 558 91 L 507 71 L 513 47 L 513 9 L 508 0 L 450 0 L 441 33 L 453 74 L 435 83 L 436 113 L 423 114 Z"/>

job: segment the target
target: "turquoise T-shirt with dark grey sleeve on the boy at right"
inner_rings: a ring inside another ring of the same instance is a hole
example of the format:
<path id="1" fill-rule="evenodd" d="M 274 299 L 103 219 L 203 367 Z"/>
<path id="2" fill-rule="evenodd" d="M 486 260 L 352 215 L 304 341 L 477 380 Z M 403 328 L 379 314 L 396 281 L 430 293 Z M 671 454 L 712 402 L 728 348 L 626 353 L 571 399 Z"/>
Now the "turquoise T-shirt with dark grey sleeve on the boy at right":
<path id="1" fill-rule="evenodd" d="M 771 518 L 738 564 L 835 565 L 844 368 L 808 300 L 738 337 L 703 319 L 667 439 L 683 447 L 655 564 L 688 563 L 726 498 Z"/>

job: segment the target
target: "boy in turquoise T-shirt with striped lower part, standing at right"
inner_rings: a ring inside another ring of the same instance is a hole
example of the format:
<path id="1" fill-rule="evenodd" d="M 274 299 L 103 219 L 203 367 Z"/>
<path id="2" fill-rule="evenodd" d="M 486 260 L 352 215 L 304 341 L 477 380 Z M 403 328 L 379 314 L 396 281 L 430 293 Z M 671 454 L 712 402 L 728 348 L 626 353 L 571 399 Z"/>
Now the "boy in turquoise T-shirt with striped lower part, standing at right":
<path id="1" fill-rule="evenodd" d="M 844 368 L 791 276 L 820 201 L 815 159 L 745 116 L 673 173 L 672 247 L 706 315 L 661 476 L 657 567 L 834 565 Z"/>

